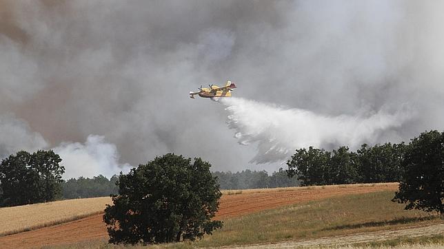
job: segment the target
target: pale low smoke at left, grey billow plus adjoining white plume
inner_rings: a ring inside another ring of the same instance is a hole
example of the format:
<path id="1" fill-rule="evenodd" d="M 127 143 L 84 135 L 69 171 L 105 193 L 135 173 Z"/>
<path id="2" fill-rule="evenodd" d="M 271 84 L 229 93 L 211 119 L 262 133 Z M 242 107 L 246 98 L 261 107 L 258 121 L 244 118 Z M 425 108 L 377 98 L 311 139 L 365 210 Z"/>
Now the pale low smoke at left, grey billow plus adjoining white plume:
<path id="1" fill-rule="evenodd" d="M 0 162 L 18 151 L 32 153 L 49 148 L 48 142 L 40 133 L 32 131 L 28 122 L 12 114 L 0 115 Z M 52 150 L 63 160 L 64 179 L 99 174 L 109 178 L 130 169 L 130 164 L 119 163 L 120 155 L 116 145 L 106 142 L 103 136 L 90 135 L 84 144 L 62 142 Z"/>

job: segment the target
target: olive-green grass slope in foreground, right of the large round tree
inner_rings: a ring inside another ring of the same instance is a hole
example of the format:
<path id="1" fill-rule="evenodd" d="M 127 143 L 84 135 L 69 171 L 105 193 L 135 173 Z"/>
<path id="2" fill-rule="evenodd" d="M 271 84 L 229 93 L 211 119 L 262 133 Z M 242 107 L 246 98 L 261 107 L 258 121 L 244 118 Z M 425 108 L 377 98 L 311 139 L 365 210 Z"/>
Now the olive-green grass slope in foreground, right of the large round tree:
<path id="1" fill-rule="evenodd" d="M 438 216 L 418 210 L 403 210 L 402 204 L 390 201 L 393 195 L 393 191 L 346 195 L 265 210 L 226 219 L 221 230 L 205 236 L 201 241 L 171 243 L 154 248 L 219 247 L 295 241 L 443 223 L 443 219 Z M 353 244 L 352 248 L 426 243 L 442 245 L 443 236 L 413 239 L 401 237 Z M 62 247 L 115 248 L 105 240 L 72 243 Z"/>

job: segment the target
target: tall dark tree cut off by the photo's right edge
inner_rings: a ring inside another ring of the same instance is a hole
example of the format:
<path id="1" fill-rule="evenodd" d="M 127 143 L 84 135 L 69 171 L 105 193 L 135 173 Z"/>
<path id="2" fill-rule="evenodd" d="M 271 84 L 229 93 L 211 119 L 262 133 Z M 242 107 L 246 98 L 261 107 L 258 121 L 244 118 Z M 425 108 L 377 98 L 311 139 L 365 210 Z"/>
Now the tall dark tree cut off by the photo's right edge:
<path id="1" fill-rule="evenodd" d="M 444 214 L 444 133 L 426 131 L 405 147 L 405 175 L 392 201 Z"/>

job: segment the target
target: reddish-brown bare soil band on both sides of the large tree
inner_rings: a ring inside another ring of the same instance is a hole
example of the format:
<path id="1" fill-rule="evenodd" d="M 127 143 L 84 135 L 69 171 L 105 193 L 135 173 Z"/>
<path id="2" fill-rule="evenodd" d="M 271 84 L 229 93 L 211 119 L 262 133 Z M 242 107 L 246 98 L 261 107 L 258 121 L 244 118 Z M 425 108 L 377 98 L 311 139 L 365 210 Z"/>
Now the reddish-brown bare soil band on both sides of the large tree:
<path id="1" fill-rule="evenodd" d="M 277 188 L 270 190 L 232 191 L 232 195 L 221 197 L 219 212 L 216 219 L 239 217 L 261 210 L 309 202 L 339 195 L 352 195 L 376 191 L 396 191 L 397 183 L 372 185 L 345 185 L 327 186 L 325 188 Z M 239 194 L 235 194 L 239 193 Z M 0 237 L 1 248 L 36 248 L 41 246 L 75 243 L 90 239 L 104 239 L 108 237 L 102 214 L 92 215 L 77 221 L 70 221 L 57 226 L 39 228 L 16 235 Z"/>

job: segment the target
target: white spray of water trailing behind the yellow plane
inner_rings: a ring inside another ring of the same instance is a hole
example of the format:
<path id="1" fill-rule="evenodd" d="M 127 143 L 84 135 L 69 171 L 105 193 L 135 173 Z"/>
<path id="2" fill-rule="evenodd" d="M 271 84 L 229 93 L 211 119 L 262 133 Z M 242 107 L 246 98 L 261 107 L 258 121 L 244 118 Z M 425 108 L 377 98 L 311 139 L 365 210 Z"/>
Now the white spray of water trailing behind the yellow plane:
<path id="1" fill-rule="evenodd" d="M 407 107 L 394 113 L 380 110 L 356 116 L 323 116 L 303 109 L 288 109 L 244 98 L 225 98 L 228 127 L 239 144 L 257 142 L 258 164 L 285 161 L 295 149 L 345 145 L 356 149 L 363 142 L 377 142 L 387 129 L 400 127 L 412 117 Z"/>

